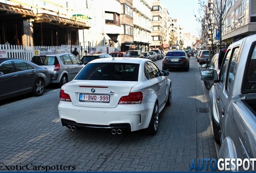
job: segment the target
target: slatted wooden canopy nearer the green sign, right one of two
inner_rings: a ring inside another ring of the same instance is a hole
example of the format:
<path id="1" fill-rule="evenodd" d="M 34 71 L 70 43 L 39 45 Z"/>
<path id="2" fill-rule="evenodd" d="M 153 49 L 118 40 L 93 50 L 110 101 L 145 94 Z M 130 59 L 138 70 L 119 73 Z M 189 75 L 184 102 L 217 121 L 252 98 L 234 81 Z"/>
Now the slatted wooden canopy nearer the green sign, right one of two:
<path id="1" fill-rule="evenodd" d="M 50 22 L 65 26 L 72 26 L 74 28 L 80 28 L 80 29 L 89 29 L 90 27 L 86 25 L 84 22 L 79 22 L 76 20 L 68 19 L 68 18 L 62 18 L 59 16 L 54 16 L 52 14 L 46 14 L 46 13 L 38 13 L 37 18 L 35 18 L 35 23 L 40 22 Z"/>

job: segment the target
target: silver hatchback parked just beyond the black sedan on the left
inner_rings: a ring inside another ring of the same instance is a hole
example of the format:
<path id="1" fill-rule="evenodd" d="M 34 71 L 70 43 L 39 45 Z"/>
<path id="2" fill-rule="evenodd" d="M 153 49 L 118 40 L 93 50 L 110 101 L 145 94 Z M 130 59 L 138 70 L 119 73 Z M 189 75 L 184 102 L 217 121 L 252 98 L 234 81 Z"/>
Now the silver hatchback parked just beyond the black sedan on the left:
<path id="1" fill-rule="evenodd" d="M 59 87 L 72 80 L 85 66 L 70 53 L 52 53 L 33 56 L 31 62 L 49 70 L 50 83 L 58 83 Z"/>

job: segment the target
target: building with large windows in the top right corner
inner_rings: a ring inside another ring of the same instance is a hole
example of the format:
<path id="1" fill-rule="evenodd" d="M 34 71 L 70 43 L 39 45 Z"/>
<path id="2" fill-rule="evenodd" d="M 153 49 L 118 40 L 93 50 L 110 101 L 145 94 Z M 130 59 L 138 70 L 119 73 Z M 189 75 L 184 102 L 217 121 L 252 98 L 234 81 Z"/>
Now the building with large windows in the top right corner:
<path id="1" fill-rule="evenodd" d="M 222 32 L 224 44 L 256 33 L 256 0 L 231 0 L 227 9 Z"/>

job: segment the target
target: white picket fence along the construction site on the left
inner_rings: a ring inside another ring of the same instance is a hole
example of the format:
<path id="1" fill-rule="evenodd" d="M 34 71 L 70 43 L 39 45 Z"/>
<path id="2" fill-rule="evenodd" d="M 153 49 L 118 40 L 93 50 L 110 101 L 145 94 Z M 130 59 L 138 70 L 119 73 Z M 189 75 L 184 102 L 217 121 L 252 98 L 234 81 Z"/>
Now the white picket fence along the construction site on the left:
<path id="1" fill-rule="evenodd" d="M 62 45 L 62 46 L 17 46 L 17 45 L 7 45 L 0 44 L 0 58 L 20 58 L 31 61 L 34 55 L 40 54 L 40 48 L 47 48 L 48 53 L 62 52 L 62 53 L 71 53 L 74 48 L 77 48 L 77 51 L 80 55 L 79 58 L 83 57 L 84 51 L 87 50 L 90 53 L 90 49 L 87 46 L 76 46 L 76 45 Z M 105 46 L 95 46 L 91 47 L 94 50 L 94 53 L 101 52 L 108 53 L 114 51 L 114 47 L 105 47 Z"/>

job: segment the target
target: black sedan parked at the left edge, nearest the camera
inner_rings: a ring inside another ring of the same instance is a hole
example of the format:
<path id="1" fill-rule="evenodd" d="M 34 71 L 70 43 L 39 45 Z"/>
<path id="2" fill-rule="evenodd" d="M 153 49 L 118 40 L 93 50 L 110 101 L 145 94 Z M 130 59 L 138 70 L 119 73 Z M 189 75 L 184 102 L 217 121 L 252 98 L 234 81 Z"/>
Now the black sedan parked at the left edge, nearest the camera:
<path id="1" fill-rule="evenodd" d="M 49 83 L 46 68 L 23 59 L 0 58 L 0 100 L 27 93 L 41 96 Z"/>

